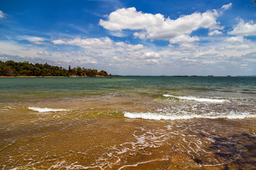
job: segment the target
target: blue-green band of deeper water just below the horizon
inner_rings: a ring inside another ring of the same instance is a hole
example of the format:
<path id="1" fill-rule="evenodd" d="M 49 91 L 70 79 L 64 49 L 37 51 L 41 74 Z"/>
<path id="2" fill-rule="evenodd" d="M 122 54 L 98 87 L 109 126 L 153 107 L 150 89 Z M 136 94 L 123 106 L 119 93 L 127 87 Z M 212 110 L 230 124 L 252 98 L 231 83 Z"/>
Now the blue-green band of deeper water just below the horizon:
<path id="1" fill-rule="evenodd" d="M 82 97 L 122 92 L 196 94 L 255 99 L 256 78 L 225 77 L 114 77 L 106 78 L 1 78 L 0 100 Z"/>

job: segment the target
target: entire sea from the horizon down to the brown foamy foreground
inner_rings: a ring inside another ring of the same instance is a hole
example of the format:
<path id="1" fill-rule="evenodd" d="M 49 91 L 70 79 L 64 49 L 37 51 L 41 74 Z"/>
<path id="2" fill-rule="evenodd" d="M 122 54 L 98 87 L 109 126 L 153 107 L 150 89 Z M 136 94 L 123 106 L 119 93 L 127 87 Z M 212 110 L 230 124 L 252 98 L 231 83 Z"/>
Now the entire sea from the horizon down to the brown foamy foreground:
<path id="1" fill-rule="evenodd" d="M 0 78 L 1 169 L 256 169 L 256 78 Z"/>

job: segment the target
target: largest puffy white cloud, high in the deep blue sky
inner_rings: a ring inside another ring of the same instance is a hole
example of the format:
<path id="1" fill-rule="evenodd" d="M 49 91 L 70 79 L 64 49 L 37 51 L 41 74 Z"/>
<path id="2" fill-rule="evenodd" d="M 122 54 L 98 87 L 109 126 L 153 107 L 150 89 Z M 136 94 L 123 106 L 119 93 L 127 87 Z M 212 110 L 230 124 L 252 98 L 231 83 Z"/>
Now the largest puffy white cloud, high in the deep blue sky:
<path id="1" fill-rule="evenodd" d="M 121 8 L 112 12 L 107 20 L 101 19 L 99 24 L 110 31 L 136 30 L 134 36 L 140 39 L 168 40 L 180 35 L 189 35 L 199 28 L 223 29 L 216 19 L 222 11 L 231 5 L 232 3 L 222 6 L 219 10 L 183 15 L 175 20 L 164 18 L 162 14 L 143 13 L 137 11 L 135 7 Z"/>

